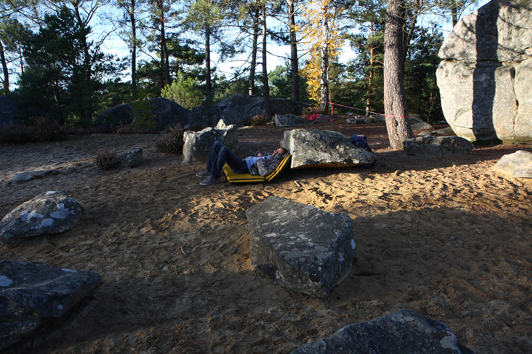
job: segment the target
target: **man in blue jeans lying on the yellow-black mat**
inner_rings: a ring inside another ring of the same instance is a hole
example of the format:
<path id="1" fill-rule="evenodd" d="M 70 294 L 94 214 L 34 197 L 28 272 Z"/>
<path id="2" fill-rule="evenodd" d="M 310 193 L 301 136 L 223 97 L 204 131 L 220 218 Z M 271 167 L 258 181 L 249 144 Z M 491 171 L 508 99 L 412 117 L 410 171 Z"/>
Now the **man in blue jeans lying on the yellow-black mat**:
<path id="1" fill-rule="evenodd" d="M 227 162 L 231 170 L 237 174 L 250 172 L 254 176 L 266 177 L 279 166 L 287 152 L 284 148 L 273 151 L 271 155 L 264 155 L 261 151 L 257 151 L 255 156 L 240 159 L 231 149 L 217 141 L 212 145 L 207 167 L 203 172 L 198 172 L 196 176 L 207 177 L 200 182 L 202 186 L 218 183 L 223 165 Z"/>

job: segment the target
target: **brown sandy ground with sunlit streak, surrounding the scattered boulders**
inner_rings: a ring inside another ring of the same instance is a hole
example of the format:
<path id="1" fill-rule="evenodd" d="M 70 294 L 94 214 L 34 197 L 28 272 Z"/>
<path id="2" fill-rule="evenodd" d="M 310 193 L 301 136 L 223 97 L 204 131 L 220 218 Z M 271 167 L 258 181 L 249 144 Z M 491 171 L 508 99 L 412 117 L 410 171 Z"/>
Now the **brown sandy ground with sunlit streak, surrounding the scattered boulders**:
<path id="1" fill-rule="evenodd" d="M 5 352 L 287 353 L 406 308 L 444 322 L 477 353 L 530 353 L 532 183 L 492 170 L 527 146 L 413 157 L 389 149 L 383 124 L 342 122 L 314 128 L 367 135 L 375 169 L 288 171 L 267 185 L 200 186 L 192 172 L 204 166 L 157 152 L 157 135 L 0 146 L 0 217 L 50 190 L 86 209 L 73 229 L 0 246 L 0 258 L 95 271 L 104 281 L 72 315 Z M 239 154 L 277 148 L 283 131 L 239 129 Z M 97 171 L 99 150 L 133 146 L 144 149 L 144 165 Z M 61 172 L 10 183 L 39 169 Z M 358 254 L 326 299 L 251 266 L 245 211 L 270 195 L 352 218 Z"/>

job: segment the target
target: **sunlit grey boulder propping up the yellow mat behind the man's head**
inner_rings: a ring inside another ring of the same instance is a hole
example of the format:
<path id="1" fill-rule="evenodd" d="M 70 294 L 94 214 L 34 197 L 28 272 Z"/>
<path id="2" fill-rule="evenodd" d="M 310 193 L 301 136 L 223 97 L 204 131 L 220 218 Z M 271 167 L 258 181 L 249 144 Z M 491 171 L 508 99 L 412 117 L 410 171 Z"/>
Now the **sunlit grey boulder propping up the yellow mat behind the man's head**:
<path id="1" fill-rule="evenodd" d="M 281 147 L 292 155 L 291 168 L 356 166 L 372 163 L 377 159 L 375 154 L 356 148 L 347 137 L 332 131 L 285 131 Z"/>

